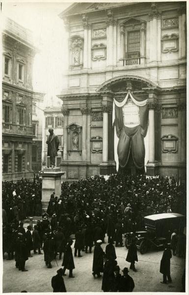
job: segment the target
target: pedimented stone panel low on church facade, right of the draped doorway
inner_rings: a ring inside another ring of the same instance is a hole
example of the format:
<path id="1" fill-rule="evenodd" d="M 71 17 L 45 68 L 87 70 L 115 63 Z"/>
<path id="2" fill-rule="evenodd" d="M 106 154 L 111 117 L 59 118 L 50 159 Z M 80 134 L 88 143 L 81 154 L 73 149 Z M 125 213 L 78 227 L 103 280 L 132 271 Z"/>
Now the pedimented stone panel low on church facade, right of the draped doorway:
<path id="1" fill-rule="evenodd" d="M 175 135 L 162 136 L 162 153 L 176 153 L 178 152 L 178 137 Z"/>

